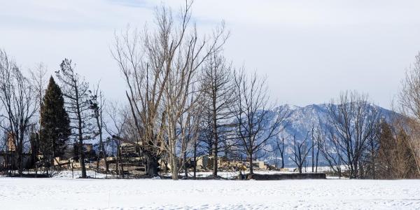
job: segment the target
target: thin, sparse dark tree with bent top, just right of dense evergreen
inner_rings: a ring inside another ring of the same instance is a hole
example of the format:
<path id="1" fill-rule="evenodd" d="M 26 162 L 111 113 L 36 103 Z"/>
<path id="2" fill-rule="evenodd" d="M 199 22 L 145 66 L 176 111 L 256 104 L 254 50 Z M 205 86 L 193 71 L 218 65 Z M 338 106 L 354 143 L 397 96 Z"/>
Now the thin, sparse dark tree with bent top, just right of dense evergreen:
<path id="1" fill-rule="evenodd" d="M 78 157 L 82 169 L 82 178 L 87 178 L 85 167 L 85 153 L 83 140 L 90 139 L 91 125 L 89 103 L 89 84 L 73 69 L 71 60 L 64 59 L 60 70 L 56 71 L 57 78 L 62 83 L 62 92 L 66 99 L 66 111 L 69 112 L 71 122 L 71 136 L 78 142 Z"/>

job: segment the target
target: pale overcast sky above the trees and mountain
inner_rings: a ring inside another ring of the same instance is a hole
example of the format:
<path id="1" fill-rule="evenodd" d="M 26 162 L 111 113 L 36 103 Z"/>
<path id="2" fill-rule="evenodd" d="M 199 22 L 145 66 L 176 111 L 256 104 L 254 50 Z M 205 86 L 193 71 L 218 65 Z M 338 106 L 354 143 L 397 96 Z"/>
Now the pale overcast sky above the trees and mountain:
<path id="1" fill-rule="evenodd" d="M 125 84 L 109 48 L 115 30 L 153 22 L 160 3 L 182 0 L 34 0 L 0 2 L 0 48 L 29 69 L 50 73 L 64 57 L 107 97 Z M 225 55 L 267 76 L 272 99 L 306 106 L 341 90 L 359 90 L 389 107 L 405 69 L 420 50 L 420 1 L 196 0 L 199 29 L 221 20 L 231 31 Z"/>

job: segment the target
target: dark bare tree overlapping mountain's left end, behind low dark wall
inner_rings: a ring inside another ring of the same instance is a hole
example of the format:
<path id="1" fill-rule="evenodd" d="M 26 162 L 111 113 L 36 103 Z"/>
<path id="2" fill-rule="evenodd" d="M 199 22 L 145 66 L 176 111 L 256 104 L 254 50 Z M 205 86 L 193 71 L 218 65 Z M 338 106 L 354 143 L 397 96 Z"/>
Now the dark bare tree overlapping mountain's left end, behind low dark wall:
<path id="1" fill-rule="evenodd" d="M 253 174 L 253 160 L 269 139 L 280 132 L 285 113 L 276 112 L 270 118 L 269 96 L 265 79 L 256 73 L 246 76 L 243 70 L 235 72 L 235 113 L 236 135 L 241 151 L 247 156 Z"/>

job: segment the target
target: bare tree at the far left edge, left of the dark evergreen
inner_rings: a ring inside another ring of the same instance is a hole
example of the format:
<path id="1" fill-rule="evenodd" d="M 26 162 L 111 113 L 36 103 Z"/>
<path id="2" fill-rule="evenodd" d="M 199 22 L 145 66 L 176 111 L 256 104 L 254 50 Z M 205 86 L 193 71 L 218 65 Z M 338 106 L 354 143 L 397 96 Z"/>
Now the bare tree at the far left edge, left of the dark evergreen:
<path id="1" fill-rule="evenodd" d="M 0 50 L 0 100 L 6 112 L 3 117 L 8 122 L 3 129 L 8 133 L 7 138 L 13 139 L 18 172 L 22 175 L 24 147 L 29 141 L 27 133 L 33 125 L 31 118 L 38 109 L 38 102 L 34 97 L 34 87 L 4 50 Z"/>

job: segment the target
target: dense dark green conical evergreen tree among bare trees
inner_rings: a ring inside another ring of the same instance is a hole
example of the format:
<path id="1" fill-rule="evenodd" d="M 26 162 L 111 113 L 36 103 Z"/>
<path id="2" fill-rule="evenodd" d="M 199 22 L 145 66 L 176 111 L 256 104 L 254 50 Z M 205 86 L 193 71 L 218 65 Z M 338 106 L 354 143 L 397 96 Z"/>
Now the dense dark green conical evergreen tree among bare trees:
<path id="1" fill-rule="evenodd" d="M 44 160 L 51 163 L 52 158 L 64 154 L 71 131 L 69 115 L 64 109 L 62 90 L 52 76 L 41 104 L 41 119 L 40 151 Z"/>

